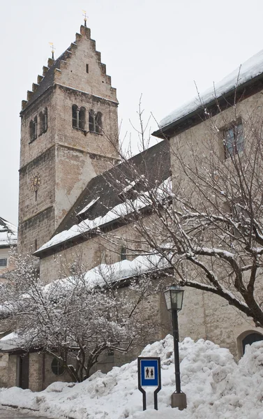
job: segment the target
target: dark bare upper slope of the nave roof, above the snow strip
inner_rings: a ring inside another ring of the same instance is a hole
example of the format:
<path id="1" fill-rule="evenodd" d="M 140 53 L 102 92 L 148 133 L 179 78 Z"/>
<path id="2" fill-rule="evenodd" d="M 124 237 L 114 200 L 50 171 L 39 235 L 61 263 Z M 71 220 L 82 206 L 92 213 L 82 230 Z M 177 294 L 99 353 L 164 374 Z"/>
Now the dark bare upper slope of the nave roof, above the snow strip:
<path id="1" fill-rule="evenodd" d="M 83 219 L 93 220 L 98 216 L 104 216 L 109 210 L 123 202 L 119 197 L 123 191 L 123 185 L 128 186 L 134 182 L 136 172 L 139 177 L 144 175 L 146 178 L 147 189 L 151 189 L 167 179 L 171 174 L 168 141 L 161 141 L 133 156 L 127 162 L 120 163 L 102 175 L 91 179 L 54 235 L 68 230 Z M 96 202 L 89 207 L 92 201 Z M 83 211 L 85 207 L 87 207 L 87 211 Z"/>

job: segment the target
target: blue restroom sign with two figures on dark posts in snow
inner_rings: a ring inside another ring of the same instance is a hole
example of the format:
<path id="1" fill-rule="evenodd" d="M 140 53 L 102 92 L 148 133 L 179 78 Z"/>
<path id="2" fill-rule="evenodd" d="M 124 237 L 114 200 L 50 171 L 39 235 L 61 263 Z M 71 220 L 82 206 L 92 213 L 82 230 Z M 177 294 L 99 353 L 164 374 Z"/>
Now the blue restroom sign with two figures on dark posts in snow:
<path id="1" fill-rule="evenodd" d="M 138 358 L 138 388 L 142 392 L 143 410 L 146 410 L 146 391 L 143 387 L 156 387 L 154 390 L 154 409 L 158 410 L 157 393 L 161 389 L 160 357 Z"/>

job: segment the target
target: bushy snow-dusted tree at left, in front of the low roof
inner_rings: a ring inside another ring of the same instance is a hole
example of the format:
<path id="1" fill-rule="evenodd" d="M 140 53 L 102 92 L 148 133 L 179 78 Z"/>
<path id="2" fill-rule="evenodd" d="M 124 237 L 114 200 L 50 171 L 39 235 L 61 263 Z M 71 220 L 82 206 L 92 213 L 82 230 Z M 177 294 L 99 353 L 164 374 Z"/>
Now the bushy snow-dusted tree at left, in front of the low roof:
<path id="1" fill-rule="evenodd" d="M 33 258 L 15 262 L 1 284 L 1 319 L 17 331 L 17 346 L 57 358 L 73 381 L 88 378 L 103 353 L 128 353 L 153 339 L 158 325 L 143 303 L 159 284 L 147 275 L 117 281 L 110 266 L 87 272 L 79 258 L 70 277 L 61 272 L 44 284 Z"/>

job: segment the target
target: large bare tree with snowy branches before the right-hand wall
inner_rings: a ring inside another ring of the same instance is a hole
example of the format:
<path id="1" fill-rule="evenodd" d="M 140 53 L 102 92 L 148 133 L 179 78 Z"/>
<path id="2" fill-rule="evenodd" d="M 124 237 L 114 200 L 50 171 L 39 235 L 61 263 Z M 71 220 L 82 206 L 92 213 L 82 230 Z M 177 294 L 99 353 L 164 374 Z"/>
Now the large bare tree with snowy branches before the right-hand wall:
<path id="1" fill-rule="evenodd" d="M 170 179 L 150 183 L 149 172 L 121 156 L 130 176 L 112 179 L 126 203 L 117 215 L 140 235 L 137 254 L 160 255 L 178 284 L 224 298 L 263 327 L 263 115 L 257 106 L 241 121 L 239 103 L 228 113 L 218 103 L 216 117 L 202 113 L 202 138 L 192 129 L 165 139 Z M 139 116 L 143 142 L 141 108 Z M 100 234 L 121 240 L 118 230 Z M 126 241 L 134 253 L 133 235 Z"/>

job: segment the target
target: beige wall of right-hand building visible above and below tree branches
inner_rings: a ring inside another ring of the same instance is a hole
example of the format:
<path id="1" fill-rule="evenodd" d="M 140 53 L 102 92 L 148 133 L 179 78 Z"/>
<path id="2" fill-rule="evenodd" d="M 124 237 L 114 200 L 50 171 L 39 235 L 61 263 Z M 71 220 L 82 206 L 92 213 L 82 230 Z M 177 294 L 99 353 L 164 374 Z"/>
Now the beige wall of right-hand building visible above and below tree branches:
<path id="1" fill-rule="evenodd" d="M 201 122 L 193 128 L 189 128 L 183 133 L 170 139 L 172 175 L 176 182 L 176 157 L 173 152 L 179 141 L 181 145 L 181 153 L 185 158 L 188 157 L 187 147 L 196 147 L 199 153 L 207 153 L 209 141 L 211 140 L 211 126 L 216 126 L 219 130 L 225 128 L 236 118 L 241 118 L 243 122 L 244 136 L 246 139 L 246 121 L 250 117 L 262 120 L 263 117 L 263 96 L 262 92 L 250 96 L 236 104 L 236 113 L 234 108 L 229 108 L 219 115 L 211 119 Z M 245 140 L 246 141 L 246 140 Z M 224 159 L 224 147 L 222 140 L 217 140 L 216 151 L 219 156 Z M 189 154 L 190 155 L 190 154 Z M 262 328 L 255 328 L 255 324 L 250 318 L 243 315 L 223 298 L 211 293 L 203 293 L 193 288 L 186 288 L 183 309 L 179 313 L 180 337 L 190 336 L 193 339 L 209 339 L 220 346 L 230 349 L 237 358 L 241 355 L 241 341 L 239 336 L 246 331 L 257 332 L 263 334 Z"/>

